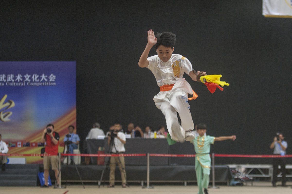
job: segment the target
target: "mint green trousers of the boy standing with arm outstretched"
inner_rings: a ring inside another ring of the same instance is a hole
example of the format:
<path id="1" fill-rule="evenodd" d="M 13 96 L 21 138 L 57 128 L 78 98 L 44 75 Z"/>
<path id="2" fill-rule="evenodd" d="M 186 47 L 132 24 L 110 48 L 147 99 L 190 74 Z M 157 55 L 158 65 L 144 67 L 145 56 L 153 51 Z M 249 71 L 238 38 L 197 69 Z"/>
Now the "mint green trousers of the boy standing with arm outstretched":
<path id="1" fill-rule="evenodd" d="M 206 157 L 206 156 L 205 156 Z M 204 159 L 205 159 L 204 157 Z M 210 156 L 209 156 L 210 157 Z M 201 157 L 200 157 L 201 159 Z M 197 176 L 197 184 L 199 188 L 198 194 L 204 194 L 203 188 L 208 188 L 209 182 L 210 182 L 210 163 L 206 165 L 206 162 L 204 162 L 205 165 L 202 165 L 201 162 L 196 157 L 196 164 L 195 164 L 195 170 L 196 170 L 196 176 Z M 203 176 L 203 178 L 202 178 Z"/>

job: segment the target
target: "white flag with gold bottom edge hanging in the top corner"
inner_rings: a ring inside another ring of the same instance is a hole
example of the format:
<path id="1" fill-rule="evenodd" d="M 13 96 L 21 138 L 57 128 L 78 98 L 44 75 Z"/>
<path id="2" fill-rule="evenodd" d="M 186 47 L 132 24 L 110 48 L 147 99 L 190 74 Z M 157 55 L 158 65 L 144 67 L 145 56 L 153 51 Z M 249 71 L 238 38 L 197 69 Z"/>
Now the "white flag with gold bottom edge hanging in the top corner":
<path id="1" fill-rule="evenodd" d="M 263 0 L 263 15 L 272 18 L 292 18 L 292 0 Z"/>

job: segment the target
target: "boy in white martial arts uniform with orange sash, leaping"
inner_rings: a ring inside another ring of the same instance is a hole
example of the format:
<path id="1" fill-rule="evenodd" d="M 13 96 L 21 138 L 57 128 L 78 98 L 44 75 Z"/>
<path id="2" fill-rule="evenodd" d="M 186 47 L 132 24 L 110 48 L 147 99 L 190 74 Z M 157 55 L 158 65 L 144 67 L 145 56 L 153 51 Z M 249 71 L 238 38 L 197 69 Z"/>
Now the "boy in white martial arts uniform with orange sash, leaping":
<path id="1" fill-rule="evenodd" d="M 188 74 L 192 80 L 200 82 L 200 76 L 206 72 L 195 72 L 190 61 L 182 55 L 172 54 L 176 41 L 171 32 L 157 33 L 148 31 L 148 43 L 138 62 L 139 67 L 147 67 L 154 74 L 160 92 L 153 100 L 166 119 L 166 125 L 171 139 L 183 143 L 194 139 L 192 130 L 194 123 L 188 103 L 188 93 L 193 94 L 192 87 L 185 81 L 183 74 Z M 148 57 L 150 49 L 155 45 L 157 55 Z M 148 58 L 147 58 L 148 57 Z M 181 119 L 178 122 L 177 113 Z"/>

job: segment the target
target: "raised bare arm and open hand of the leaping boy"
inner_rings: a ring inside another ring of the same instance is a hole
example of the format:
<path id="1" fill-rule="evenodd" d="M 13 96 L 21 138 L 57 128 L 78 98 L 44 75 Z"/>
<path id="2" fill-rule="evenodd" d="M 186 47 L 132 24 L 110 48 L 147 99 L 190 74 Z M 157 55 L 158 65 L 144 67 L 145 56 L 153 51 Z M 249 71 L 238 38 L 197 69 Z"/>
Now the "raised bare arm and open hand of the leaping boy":
<path id="1" fill-rule="evenodd" d="M 148 67 L 149 62 L 147 61 L 147 58 L 148 58 L 150 49 L 152 48 L 152 46 L 154 46 L 157 43 L 157 38 L 154 36 L 154 32 L 152 30 L 149 30 L 147 34 L 148 34 L 148 38 L 147 38 L 148 43 L 138 62 L 139 67 Z"/>

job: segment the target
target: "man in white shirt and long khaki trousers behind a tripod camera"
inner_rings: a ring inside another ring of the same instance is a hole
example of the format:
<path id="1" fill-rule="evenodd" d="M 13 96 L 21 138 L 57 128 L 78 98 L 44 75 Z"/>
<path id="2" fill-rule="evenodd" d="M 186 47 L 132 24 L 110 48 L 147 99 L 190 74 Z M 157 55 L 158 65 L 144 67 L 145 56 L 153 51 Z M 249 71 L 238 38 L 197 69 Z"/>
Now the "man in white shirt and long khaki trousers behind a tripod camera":
<path id="1" fill-rule="evenodd" d="M 114 124 L 114 131 L 109 132 L 107 143 L 111 148 L 111 153 L 121 154 L 125 152 L 126 135 L 120 132 L 121 124 L 116 122 Z M 126 188 L 126 169 L 125 169 L 125 159 L 124 156 L 111 157 L 109 161 L 109 185 L 108 188 L 114 187 L 115 170 L 116 164 L 118 164 L 119 170 L 121 172 L 122 187 Z"/>

